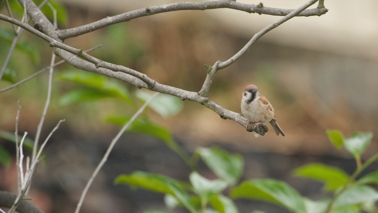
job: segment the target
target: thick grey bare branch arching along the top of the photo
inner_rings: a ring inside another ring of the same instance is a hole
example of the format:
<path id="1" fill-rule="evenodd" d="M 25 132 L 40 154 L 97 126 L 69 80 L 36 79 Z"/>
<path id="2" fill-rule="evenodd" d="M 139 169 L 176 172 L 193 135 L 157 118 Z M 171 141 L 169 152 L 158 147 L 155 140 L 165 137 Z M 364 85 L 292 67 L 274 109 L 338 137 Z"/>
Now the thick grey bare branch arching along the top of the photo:
<path id="1" fill-rule="evenodd" d="M 58 36 L 60 39 L 64 40 L 67 38 L 79 36 L 81 34 L 89 33 L 99 28 L 106 27 L 119 22 L 126 22 L 132 19 L 136 19 L 143 16 L 150 16 L 158 13 L 166 13 L 170 11 L 178 10 L 205 10 L 205 9 L 218 9 L 218 8 L 230 8 L 240 11 L 245 11 L 247 13 L 259 13 L 268 14 L 274 16 L 286 16 L 287 14 L 294 11 L 293 9 L 280 9 L 280 8 L 269 8 L 265 7 L 260 3 L 259 5 L 253 4 L 243 4 L 235 2 L 232 0 L 219 0 L 212 2 L 181 2 L 173 3 L 168 5 L 152 6 L 143 9 L 137 9 L 127 13 L 119 14 L 116 16 L 106 17 L 104 19 L 98 20 L 96 22 L 83 25 L 81 27 L 71 28 L 67 30 L 60 30 Z M 327 9 L 309 9 L 298 14 L 298 16 L 321 16 L 327 13 Z"/>

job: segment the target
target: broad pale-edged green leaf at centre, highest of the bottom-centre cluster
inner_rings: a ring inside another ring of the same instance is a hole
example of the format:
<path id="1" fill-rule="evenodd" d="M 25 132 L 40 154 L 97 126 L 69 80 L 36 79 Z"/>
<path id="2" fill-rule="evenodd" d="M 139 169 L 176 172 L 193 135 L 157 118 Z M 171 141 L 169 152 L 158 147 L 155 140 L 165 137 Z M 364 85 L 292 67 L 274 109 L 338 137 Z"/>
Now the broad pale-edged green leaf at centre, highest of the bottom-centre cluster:
<path id="1" fill-rule="evenodd" d="M 230 185 L 235 185 L 242 175 L 244 162 L 242 156 L 230 154 L 225 150 L 213 147 L 198 149 L 202 160 L 219 178 Z"/>

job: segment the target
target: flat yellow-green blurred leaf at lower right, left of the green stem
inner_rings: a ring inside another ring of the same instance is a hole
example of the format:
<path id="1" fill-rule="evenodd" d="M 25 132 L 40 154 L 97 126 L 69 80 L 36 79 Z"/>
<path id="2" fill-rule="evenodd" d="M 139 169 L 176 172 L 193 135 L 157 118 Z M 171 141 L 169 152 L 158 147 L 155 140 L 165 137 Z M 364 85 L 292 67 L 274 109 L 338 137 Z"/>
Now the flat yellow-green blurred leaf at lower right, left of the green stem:
<path id="1" fill-rule="evenodd" d="M 331 192 L 336 191 L 349 180 L 349 175 L 341 169 L 321 163 L 307 164 L 295 169 L 293 174 L 297 177 L 324 182 L 325 190 Z"/>

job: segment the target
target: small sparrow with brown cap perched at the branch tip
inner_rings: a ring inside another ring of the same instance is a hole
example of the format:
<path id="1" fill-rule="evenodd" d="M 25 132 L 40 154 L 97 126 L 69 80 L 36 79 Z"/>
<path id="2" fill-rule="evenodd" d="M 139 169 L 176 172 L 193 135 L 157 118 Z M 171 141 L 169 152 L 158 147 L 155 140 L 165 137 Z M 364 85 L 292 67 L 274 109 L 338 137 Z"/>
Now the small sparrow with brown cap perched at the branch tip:
<path id="1" fill-rule="evenodd" d="M 265 96 L 260 94 L 256 85 L 248 85 L 244 88 L 242 103 L 240 108 L 242 108 L 243 116 L 248 120 L 245 124 L 246 126 L 250 123 L 255 123 L 253 129 L 255 129 L 260 124 L 272 125 L 276 135 L 285 136 L 280 126 L 277 124 L 276 115 L 274 114 L 274 108 L 269 103 Z"/>

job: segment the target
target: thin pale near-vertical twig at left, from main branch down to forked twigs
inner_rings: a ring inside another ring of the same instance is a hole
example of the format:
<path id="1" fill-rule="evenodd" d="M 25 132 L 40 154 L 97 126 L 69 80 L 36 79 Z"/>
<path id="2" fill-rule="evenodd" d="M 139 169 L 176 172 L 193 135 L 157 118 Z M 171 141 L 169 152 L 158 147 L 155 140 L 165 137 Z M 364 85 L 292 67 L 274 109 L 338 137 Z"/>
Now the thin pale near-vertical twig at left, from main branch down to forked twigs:
<path id="1" fill-rule="evenodd" d="M 37 126 L 37 132 L 36 132 L 36 138 L 34 138 L 34 144 L 33 144 L 33 154 L 31 157 L 31 161 L 36 160 L 36 152 L 37 152 L 37 147 L 38 147 L 38 141 L 39 141 L 39 136 L 42 132 L 42 126 L 43 122 L 45 121 L 46 113 L 47 113 L 47 108 L 50 105 L 50 97 L 51 97 L 51 87 L 52 87 L 52 81 L 53 81 L 53 70 L 54 70 L 54 61 L 55 61 L 55 54 L 52 53 L 51 55 L 51 62 L 50 62 L 50 72 L 48 76 L 48 88 L 47 88 L 47 97 L 46 97 L 46 103 L 45 107 L 43 108 L 41 120 L 39 121 L 39 124 Z"/>

